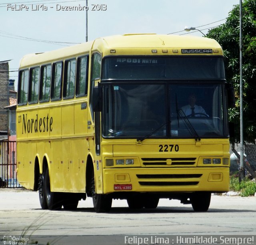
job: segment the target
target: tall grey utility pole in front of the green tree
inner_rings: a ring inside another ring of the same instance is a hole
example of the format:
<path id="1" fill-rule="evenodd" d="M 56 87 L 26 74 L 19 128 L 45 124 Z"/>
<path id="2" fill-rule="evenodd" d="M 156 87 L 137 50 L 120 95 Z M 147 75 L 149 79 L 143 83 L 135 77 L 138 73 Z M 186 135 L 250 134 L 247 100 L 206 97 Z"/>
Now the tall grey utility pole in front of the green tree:
<path id="1" fill-rule="evenodd" d="M 245 177 L 244 172 L 244 133 L 243 133 L 243 71 L 242 71 L 242 0 L 240 0 L 240 169 L 239 182 Z"/>

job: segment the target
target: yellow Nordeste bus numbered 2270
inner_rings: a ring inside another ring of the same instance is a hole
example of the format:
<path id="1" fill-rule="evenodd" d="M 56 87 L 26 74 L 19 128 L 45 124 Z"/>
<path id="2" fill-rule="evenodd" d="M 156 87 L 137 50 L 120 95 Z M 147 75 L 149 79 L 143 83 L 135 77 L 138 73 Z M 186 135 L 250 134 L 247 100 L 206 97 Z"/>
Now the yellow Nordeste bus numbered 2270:
<path id="1" fill-rule="evenodd" d="M 26 55 L 18 181 L 42 209 L 87 196 L 96 212 L 160 198 L 207 211 L 211 193 L 229 189 L 232 103 L 222 48 L 208 38 L 125 34 Z"/>

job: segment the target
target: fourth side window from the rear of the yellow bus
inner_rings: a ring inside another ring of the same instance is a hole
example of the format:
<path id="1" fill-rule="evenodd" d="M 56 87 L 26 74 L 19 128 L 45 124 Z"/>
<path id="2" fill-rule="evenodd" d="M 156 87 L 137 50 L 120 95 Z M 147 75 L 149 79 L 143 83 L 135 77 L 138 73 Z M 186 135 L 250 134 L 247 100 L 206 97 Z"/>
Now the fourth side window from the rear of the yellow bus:
<path id="1" fill-rule="evenodd" d="M 60 100 L 61 99 L 61 89 L 62 89 L 62 62 L 53 64 L 52 71 L 52 87 L 51 87 L 51 99 Z"/>

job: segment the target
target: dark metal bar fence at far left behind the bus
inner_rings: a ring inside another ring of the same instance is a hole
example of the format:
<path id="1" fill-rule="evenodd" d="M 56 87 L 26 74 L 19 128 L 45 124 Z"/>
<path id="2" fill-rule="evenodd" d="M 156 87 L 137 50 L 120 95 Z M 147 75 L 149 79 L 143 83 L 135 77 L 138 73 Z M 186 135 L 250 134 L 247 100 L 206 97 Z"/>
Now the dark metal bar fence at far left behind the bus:
<path id="1" fill-rule="evenodd" d="M 16 141 L 0 142 L 0 188 L 22 187 L 16 173 Z"/>

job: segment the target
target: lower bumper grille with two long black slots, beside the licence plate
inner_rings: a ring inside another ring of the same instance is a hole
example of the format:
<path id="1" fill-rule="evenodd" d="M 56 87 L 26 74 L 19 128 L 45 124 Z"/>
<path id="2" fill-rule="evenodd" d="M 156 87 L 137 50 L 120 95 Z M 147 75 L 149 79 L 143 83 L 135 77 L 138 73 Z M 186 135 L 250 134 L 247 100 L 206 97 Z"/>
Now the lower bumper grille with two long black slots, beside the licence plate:
<path id="1" fill-rule="evenodd" d="M 147 181 L 139 181 L 141 186 L 195 186 L 199 181 L 184 181 L 188 178 L 200 178 L 202 174 L 137 174 L 138 179 L 147 179 Z M 154 181 L 148 181 L 148 179 L 155 179 Z M 167 181 L 159 181 L 164 180 Z M 175 179 L 175 181 L 170 181 Z M 183 179 L 183 181 L 177 181 L 177 179 Z"/>

